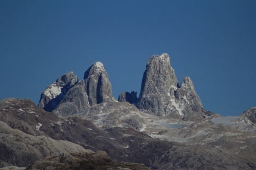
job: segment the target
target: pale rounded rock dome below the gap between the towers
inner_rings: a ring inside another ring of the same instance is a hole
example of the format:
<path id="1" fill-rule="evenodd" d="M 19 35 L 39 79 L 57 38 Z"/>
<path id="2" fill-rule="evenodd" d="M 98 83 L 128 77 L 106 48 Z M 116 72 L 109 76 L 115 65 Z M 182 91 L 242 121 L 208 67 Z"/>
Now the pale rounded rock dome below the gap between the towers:
<path id="1" fill-rule="evenodd" d="M 143 117 L 143 114 L 129 102 L 104 102 L 81 111 L 77 116 L 92 121 L 102 130 L 117 126 L 141 130 L 143 124 L 149 124 L 148 117 Z"/>

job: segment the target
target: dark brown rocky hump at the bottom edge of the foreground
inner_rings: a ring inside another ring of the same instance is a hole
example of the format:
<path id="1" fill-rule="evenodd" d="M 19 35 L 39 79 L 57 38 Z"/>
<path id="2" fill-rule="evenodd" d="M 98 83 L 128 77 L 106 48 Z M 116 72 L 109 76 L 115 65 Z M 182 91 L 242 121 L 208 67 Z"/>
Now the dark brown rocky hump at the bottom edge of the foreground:
<path id="1" fill-rule="evenodd" d="M 63 153 L 42 161 L 37 161 L 27 169 L 116 169 L 116 170 L 149 170 L 143 164 L 115 162 L 103 151 L 86 150 L 77 153 Z"/>

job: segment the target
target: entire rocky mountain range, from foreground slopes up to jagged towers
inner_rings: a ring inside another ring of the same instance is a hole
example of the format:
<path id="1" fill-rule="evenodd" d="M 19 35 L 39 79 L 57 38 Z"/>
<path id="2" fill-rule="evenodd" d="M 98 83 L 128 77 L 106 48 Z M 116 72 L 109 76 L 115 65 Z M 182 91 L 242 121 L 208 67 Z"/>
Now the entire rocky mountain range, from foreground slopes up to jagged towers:
<path id="1" fill-rule="evenodd" d="M 204 109 L 170 57 L 149 57 L 141 91 L 112 94 L 95 62 L 65 73 L 39 104 L 0 101 L 3 169 L 256 169 L 256 108 L 236 117 Z"/>

